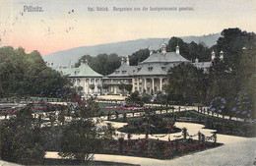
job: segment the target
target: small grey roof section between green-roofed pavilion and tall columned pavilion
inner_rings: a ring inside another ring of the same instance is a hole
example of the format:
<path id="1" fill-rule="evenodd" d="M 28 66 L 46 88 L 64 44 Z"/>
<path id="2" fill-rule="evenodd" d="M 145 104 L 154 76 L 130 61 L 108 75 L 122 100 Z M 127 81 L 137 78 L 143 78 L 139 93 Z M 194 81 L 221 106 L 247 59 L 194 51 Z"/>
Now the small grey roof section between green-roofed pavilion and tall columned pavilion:
<path id="1" fill-rule="evenodd" d="M 107 77 L 129 77 L 133 76 L 135 73 L 137 73 L 136 66 L 121 64 L 121 66 L 118 69 L 116 69 L 112 74 L 107 75 Z"/>

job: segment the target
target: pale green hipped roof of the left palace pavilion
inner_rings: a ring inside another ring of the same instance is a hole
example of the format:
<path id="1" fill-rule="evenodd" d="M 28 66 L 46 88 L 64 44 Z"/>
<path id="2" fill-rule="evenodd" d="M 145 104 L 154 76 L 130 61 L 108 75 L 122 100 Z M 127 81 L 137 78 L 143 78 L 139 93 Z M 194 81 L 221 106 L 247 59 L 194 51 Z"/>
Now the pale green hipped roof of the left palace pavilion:
<path id="1" fill-rule="evenodd" d="M 81 63 L 79 68 L 74 68 L 74 72 L 69 76 L 73 78 L 86 78 L 86 77 L 100 77 L 102 78 L 103 76 L 96 73 L 92 68 L 87 63 Z"/>

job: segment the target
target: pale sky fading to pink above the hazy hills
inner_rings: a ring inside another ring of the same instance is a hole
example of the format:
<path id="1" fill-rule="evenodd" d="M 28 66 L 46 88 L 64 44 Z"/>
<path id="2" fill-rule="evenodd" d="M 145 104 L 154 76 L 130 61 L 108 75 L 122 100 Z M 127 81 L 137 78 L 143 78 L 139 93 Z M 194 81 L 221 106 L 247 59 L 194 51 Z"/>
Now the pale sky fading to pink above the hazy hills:
<path id="1" fill-rule="evenodd" d="M 30 7 L 41 11 L 28 11 Z M 256 0 L 0 0 L 0 46 L 41 55 L 139 38 L 207 35 L 224 28 L 256 32 Z"/>

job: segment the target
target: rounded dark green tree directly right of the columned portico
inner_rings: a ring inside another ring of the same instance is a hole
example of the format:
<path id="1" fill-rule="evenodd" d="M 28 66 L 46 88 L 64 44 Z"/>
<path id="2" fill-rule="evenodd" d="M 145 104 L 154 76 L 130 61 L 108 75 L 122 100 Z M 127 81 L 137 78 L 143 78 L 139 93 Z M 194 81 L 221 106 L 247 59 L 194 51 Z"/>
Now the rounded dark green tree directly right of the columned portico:
<path id="1" fill-rule="evenodd" d="M 204 102 L 206 74 L 190 64 L 179 64 L 168 72 L 166 92 L 175 104 Z"/>

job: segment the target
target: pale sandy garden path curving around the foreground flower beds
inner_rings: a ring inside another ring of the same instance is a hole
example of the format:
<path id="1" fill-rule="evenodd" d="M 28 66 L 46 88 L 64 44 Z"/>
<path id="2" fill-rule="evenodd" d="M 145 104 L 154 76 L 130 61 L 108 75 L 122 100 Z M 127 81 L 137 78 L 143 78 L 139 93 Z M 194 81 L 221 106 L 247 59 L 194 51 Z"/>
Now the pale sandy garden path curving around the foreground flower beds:
<path id="1" fill-rule="evenodd" d="M 105 121 L 104 123 L 108 123 Z M 115 128 L 120 128 L 126 123 L 110 122 Z M 206 136 L 211 135 L 215 130 L 207 130 L 203 125 L 193 123 L 175 123 L 178 128 L 187 128 L 190 135 L 197 134 L 198 131 Z M 120 134 L 119 132 L 117 132 Z M 170 139 L 174 136 L 180 136 L 181 133 L 171 134 Z M 150 138 L 156 138 L 157 135 L 150 136 Z M 163 136 L 163 135 L 159 135 Z M 127 138 L 125 136 L 125 138 Z M 132 138 L 145 138 L 145 135 L 133 135 Z M 123 162 L 131 164 L 140 164 L 142 166 L 245 166 L 245 165 L 256 165 L 256 138 L 241 138 L 226 135 L 217 135 L 218 142 L 224 143 L 224 145 L 208 149 L 201 152 L 196 152 L 183 157 L 175 158 L 172 160 L 159 160 L 143 157 L 132 157 L 132 156 L 119 156 L 119 155 L 107 155 L 107 154 L 96 154 L 95 160 L 98 161 L 112 161 L 112 162 Z M 168 136 L 160 138 L 160 140 L 167 140 Z M 57 152 L 47 152 L 45 157 L 47 158 L 58 158 Z"/>

